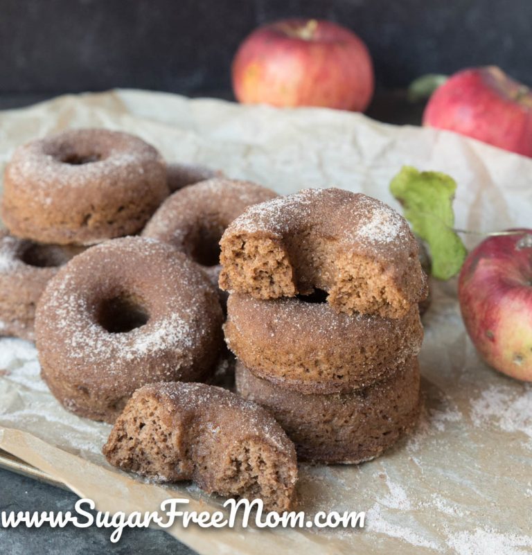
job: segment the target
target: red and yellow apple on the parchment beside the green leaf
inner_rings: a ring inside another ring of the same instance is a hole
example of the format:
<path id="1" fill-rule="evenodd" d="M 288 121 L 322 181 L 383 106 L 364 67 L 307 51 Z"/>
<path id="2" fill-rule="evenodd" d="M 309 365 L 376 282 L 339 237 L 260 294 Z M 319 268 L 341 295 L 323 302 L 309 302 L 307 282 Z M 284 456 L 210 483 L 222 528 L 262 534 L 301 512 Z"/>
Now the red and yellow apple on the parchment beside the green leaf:
<path id="1" fill-rule="evenodd" d="M 484 240 L 465 259 L 459 299 L 465 327 L 490 366 L 532 381 L 532 229 Z"/>

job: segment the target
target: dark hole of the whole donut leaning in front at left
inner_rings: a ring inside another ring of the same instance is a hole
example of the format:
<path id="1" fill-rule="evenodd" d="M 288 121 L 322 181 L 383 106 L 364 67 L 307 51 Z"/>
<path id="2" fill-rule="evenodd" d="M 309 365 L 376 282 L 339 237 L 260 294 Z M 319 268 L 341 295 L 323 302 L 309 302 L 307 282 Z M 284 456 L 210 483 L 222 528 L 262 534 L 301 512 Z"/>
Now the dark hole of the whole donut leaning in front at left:
<path id="1" fill-rule="evenodd" d="M 127 333 L 148 324 L 150 315 L 140 299 L 118 295 L 100 303 L 97 319 L 109 333 Z"/>

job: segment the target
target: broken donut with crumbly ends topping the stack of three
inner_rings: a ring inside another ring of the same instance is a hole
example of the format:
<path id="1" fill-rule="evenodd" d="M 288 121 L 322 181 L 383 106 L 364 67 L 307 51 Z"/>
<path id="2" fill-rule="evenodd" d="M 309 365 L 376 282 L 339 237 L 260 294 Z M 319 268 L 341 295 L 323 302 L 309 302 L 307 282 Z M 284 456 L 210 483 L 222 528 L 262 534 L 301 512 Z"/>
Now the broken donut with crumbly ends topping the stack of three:
<path id="1" fill-rule="evenodd" d="M 257 299 L 317 288 L 338 311 L 401 318 L 427 294 L 407 221 L 360 193 L 305 189 L 251 206 L 220 246 L 220 288 Z"/>

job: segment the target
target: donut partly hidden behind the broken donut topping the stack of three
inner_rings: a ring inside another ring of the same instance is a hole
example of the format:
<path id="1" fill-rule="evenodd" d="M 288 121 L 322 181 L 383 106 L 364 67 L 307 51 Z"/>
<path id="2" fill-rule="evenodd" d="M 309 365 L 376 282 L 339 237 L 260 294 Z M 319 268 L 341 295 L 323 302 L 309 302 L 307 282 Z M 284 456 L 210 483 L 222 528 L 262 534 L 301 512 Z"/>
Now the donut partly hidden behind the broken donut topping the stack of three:
<path id="1" fill-rule="evenodd" d="M 208 179 L 170 195 L 142 235 L 174 245 L 202 265 L 218 287 L 218 243 L 224 230 L 247 206 L 276 196 L 274 191 L 251 182 Z"/>

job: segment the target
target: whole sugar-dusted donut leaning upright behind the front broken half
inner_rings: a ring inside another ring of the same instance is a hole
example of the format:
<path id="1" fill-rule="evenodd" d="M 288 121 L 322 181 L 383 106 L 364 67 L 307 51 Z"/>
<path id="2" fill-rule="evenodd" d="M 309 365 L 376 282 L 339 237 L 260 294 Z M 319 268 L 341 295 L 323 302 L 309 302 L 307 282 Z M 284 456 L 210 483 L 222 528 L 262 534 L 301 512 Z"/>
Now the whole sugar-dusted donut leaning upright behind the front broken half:
<path id="1" fill-rule="evenodd" d="M 35 337 L 57 400 L 112 423 L 145 384 L 209 377 L 222 309 L 204 272 L 171 245 L 119 238 L 72 258 L 48 281 Z"/>

